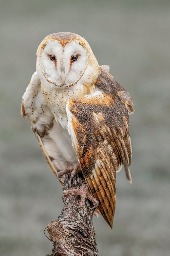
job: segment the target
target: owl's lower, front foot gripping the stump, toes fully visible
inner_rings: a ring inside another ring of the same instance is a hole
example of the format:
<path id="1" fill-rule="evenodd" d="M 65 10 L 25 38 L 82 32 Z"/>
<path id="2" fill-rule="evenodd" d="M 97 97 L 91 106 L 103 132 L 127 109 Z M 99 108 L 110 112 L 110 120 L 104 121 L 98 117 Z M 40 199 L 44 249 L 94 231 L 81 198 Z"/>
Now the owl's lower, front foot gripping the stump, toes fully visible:
<path id="1" fill-rule="evenodd" d="M 99 202 L 98 200 L 96 200 L 90 193 L 90 190 L 87 186 L 87 184 L 84 184 L 81 186 L 80 189 L 70 189 L 70 190 L 64 190 L 63 191 L 63 194 L 65 197 L 68 197 L 68 196 L 80 196 L 80 205 L 78 208 L 83 208 L 84 207 L 84 204 L 85 204 L 85 200 L 86 198 L 88 200 L 90 200 L 94 207 L 90 208 L 90 209 L 95 209 Z"/>

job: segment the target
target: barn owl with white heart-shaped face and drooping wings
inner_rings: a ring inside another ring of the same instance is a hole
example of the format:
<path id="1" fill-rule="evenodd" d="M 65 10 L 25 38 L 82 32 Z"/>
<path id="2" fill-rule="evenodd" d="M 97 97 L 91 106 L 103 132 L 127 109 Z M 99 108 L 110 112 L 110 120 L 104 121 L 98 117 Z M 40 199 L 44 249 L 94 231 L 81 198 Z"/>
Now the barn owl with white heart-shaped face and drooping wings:
<path id="1" fill-rule="evenodd" d="M 80 35 L 48 35 L 37 49 L 36 72 L 23 95 L 21 115 L 28 117 L 57 177 L 82 171 L 90 191 L 82 190 L 109 226 L 116 207 L 116 172 L 130 174 L 127 91 L 99 66 Z M 89 196 L 90 194 L 90 196 Z"/>

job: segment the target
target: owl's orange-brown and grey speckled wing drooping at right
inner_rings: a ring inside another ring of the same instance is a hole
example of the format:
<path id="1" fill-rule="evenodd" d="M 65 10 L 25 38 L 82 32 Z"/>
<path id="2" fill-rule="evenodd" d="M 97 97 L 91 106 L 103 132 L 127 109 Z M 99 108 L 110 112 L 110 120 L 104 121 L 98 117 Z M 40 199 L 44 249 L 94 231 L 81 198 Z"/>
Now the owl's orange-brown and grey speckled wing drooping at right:
<path id="1" fill-rule="evenodd" d="M 132 111 L 133 102 L 124 88 L 105 71 L 102 71 L 96 87 L 95 93 L 67 103 L 68 130 L 86 182 L 100 202 L 103 217 L 112 227 L 116 207 L 116 171 L 122 165 L 132 183 L 126 105 L 130 105 Z"/>

